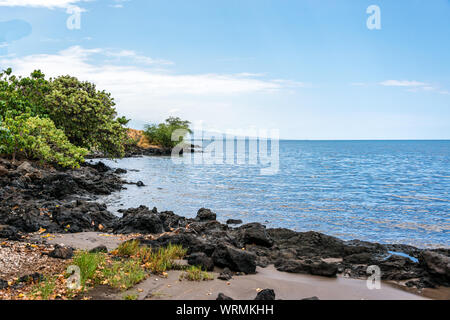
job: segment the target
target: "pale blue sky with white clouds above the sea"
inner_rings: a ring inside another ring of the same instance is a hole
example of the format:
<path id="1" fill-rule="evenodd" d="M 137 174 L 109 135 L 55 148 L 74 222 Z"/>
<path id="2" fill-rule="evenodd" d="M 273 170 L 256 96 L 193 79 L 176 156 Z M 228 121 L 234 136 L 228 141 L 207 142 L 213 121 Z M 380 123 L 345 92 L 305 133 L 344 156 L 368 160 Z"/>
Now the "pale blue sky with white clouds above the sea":
<path id="1" fill-rule="evenodd" d="M 450 139 L 449 0 L 0 0 L 8 67 L 92 81 L 138 129 Z"/>

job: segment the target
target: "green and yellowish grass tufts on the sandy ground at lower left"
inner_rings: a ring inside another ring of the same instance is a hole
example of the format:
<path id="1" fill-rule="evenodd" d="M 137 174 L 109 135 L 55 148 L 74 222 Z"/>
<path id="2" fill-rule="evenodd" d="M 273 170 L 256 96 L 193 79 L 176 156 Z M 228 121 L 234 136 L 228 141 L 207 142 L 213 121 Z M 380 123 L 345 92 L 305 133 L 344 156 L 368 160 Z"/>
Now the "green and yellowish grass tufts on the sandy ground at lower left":
<path id="1" fill-rule="evenodd" d="M 48 300 L 78 297 L 86 299 L 89 290 L 97 285 L 125 291 L 146 279 L 151 273 L 162 277 L 167 276 L 166 271 L 175 268 L 174 260 L 183 258 L 186 251 L 182 246 L 172 244 L 152 249 L 141 246 L 139 241 L 124 242 L 111 253 L 77 251 L 73 259 L 67 262 L 67 266 L 75 265 L 80 268 L 81 288 L 69 289 L 67 281 L 71 274 L 63 272 L 47 275 L 33 282 L 31 287 L 20 290 L 17 298 Z M 198 267 L 190 267 L 183 279 L 210 280 L 212 276 Z M 135 300 L 138 296 L 129 293 L 123 298 Z"/>

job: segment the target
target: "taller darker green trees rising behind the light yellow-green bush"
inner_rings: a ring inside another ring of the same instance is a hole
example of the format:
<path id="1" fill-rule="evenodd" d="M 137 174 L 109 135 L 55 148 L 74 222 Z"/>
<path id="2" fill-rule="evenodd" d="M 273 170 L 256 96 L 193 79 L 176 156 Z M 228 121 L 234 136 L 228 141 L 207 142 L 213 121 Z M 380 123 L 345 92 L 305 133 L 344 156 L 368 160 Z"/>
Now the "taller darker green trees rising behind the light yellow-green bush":
<path id="1" fill-rule="evenodd" d="M 17 77 L 10 68 L 0 73 L 1 118 L 24 114 L 49 118 L 70 143 L 111 158 L 123 157 L 128 142 L 125 125 L 129 120 L 116 118 L 114 106 L 109 93 L 74 77 L 46 80 L 40 70 Z"/>

